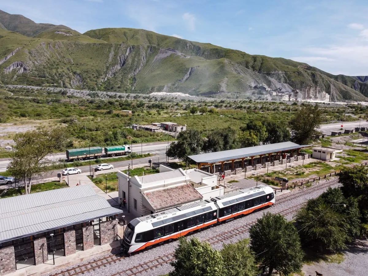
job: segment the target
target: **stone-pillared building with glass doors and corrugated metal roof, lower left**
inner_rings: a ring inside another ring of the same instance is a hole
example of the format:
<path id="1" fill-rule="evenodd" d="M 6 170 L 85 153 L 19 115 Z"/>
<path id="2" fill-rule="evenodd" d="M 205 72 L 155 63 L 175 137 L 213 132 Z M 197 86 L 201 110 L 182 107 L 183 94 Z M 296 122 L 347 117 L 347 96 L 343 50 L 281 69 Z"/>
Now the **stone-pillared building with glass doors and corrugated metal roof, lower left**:
<path id="1" fill-rule="evenodd" d="M 119 213 L 90 185 L 0 199 L 0 275 L 111 243 Z"/>

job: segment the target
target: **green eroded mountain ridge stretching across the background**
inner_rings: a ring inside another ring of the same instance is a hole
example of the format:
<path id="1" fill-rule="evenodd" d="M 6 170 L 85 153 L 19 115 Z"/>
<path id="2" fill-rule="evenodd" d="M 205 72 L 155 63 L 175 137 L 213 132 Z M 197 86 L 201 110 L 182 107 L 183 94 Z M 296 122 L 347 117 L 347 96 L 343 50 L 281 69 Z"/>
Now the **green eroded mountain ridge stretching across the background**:
<path id="1" fill-rule="evenodd" d="M 367 100 L 368 96 L 363 79 L 332 75 L 306 63 L 142 29 L 106 28 L 81 34 L 33 21 L 36 25 L 24 26 L 14 24 L 11 16 L 0 12 L 2 84 L 254 99 L 287 94 L 295 99 L 295 89 L 303 99 L 325 97 L 323 91 L 333 91 L 337 99 L 344 100 Z"/>

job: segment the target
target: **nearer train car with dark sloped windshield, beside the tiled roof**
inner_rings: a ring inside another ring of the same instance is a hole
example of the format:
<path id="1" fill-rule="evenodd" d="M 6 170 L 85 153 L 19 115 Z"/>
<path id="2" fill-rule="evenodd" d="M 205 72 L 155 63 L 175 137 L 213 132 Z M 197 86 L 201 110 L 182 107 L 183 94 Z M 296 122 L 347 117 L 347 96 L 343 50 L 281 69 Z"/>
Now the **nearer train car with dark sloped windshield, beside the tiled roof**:
<path id="1" fill-rule="evenodd" d="M 123 244 L 128 254 L 217 223 L 214 202 L 199 201 L 182 205 L 128 223 Z"/>

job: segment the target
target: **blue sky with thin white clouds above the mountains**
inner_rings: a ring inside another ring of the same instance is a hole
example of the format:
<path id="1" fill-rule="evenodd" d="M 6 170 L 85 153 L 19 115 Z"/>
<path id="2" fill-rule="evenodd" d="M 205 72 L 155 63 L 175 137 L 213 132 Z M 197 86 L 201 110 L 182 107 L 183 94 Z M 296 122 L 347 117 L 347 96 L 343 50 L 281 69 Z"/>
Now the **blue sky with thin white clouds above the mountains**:
<path id="1" fill-rule="evenodd" d="M 84 33 L 138 28 L 368 75 L 367 0 L 0 0 L 0 10 Z"/>

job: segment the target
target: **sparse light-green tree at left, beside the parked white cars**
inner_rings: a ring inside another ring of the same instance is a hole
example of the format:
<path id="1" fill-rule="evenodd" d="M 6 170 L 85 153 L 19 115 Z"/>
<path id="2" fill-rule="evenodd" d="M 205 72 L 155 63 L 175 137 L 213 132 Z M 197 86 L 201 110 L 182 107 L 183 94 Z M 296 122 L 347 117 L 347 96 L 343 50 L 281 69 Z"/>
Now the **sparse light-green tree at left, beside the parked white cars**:
<path id="1" fill-rule="evenodd" d="M 32 178 L 44 170 L 51 161 L 45 156 L 64 149 L 67 142 L 64 127 L 42 128 L 15 135 L 14 158 L 8 171 L 24 182 L 25 194 L 31 191 Z"/>

